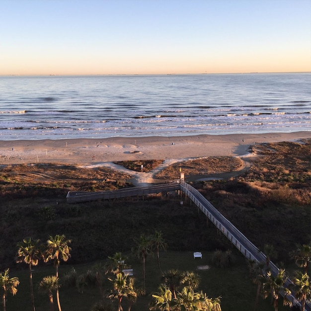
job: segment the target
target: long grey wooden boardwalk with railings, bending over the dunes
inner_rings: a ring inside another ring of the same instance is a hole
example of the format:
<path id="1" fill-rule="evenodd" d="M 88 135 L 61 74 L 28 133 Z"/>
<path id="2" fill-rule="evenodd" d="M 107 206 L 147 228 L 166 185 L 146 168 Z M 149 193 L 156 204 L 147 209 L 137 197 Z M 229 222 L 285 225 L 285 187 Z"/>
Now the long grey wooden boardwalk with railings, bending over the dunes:
<path id="1" fill-rule="evenodd" d="M 244 255 L 248 260 L 253 260 L 255 263 L 266 262 L 267 256 L 261 252 L 251 241 L 249 241 L 240 231 L 238 231 L 233 224 L 226 219 L 198 190 L 190 186 L 188 183 L 177 180 L 171 183 L 158 184 L 146 187 L 125 188 L 114 191 L 101 191 L 101 192 L 79 192 L 70 191 L 67 194 L 67 202 L 87 202 L 93 200 L 115 199 L 133 196 L 145 196 L 150 194 L 168 194 L 174 191 L 183 192 L 216 226 L 216 228 L 223 233 L 231 243 Z M 269 262 L 271 273 L 276 276 L 279 268 L 273 263 Z M 286 287 L 293 284 L 291 280 L 287 279 Z M 282 293 L 281 293 L 282 294 Z M 283 295 L 282 295 L 283 296 Z M 301 308 L 293 295 L 288 299 Z M 306 302 L 306 311 L 311 311 L 311 303 Z"/>

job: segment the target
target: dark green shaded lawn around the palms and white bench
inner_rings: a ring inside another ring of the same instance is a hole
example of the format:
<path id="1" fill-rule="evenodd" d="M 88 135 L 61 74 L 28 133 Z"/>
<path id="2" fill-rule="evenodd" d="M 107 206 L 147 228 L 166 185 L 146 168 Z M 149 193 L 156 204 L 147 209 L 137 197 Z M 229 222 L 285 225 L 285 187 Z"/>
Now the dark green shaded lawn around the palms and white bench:
<path id="1" fill-rule="evenodd" d="M 197 251 L 194 250 L 194 251 Z M 212 252 L 202 252 L 203 258 L 193 259 L 193 252 L 166 251 L 160 253 L 160 263 L 163 271 L 169 269 L 179 269 L 181 271 L 196 271 L 201 277 L 199 290 L 207 293 L 208 297 L 216 298 L 221 296 L 221 307 L 223 311 L 250 311 L 254 310 L 256 297 L 256 285 L 249 277 L 247 262 L 237 251 L 233 251 L 234 263 L 230 268 L 221 269 L 213 266 Z M 142 264 L 138 258 L 128 254 L 126 260 L 128 265 L 134 269 L 136 285 L 142 286 Z M 71 265 L 70 262 L 60 266 L 60 277 L 73 267 L 78 274 L 91 269 L 95 263 Z M 197 270 L 198 265 L 209 265 L 208 270 Z M 46 294 L 38 293 L 38 283 L 47 275 L 54 273 L 53 266 L 34 267 L 33 282 L 35 291 L 36 311 L 47 311 L 49 300 Z M 8 295 L 7 311 L 31 311 L 28 270 L 10 270 L 10 277 L 17 276 L 20 280 L 16 296 Z M 104 277 L 105 278 L 105 277 Z M 146 292 L 147 295 L 139 297 L 136 304 L 132 306 L 132 311 L 148 311 L 148 304 L 152 301 L 151 294 L 156 293 L 161 283 L 161 276 L 157 267 L 156 257 L 146 258 Z M 109 289 L 109 281 L 104 281 L 104 288 Z M 55 296 L 55 295 L 54 295 Z M 83 294 L 78 293 L 76 288 L 63 286 L 60 289 L 60 301 L 63 311 L 91 311 L 91 307 L 100 300 L 99 289 L 85 287 Z M 57 310 L 56 298 L 54 298 L 55 310 Z M 123 302 L 123 309 L 127 310 L 127 302 Z M 115 310 L 117 310 L 117 305 Z M 257 310 L 273 311 L 270 305 L 270 298 L 263 300 L 259 298 Z M 290 310 L 279 304 L 279 310 Z"/>

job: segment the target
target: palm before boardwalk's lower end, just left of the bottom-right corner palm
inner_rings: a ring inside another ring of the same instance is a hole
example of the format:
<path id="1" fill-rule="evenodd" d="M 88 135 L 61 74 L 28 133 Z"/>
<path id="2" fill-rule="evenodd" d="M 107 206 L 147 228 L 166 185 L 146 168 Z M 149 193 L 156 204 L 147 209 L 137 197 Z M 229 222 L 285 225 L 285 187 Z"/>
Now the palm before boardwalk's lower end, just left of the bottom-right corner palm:
<path id="1" fill-rule="evenodd" d="M 273 276 L 271 271 L 267 272 L 266 278 L 262 283 L 262 295 L 263 298 L 266 299 L 269 294 L 271 294 L 271 298 L 273 299 L 273 307 L 275 311 L 278 311 L 278 303 L 281 292 L 283 292 L 284 299 L 283 305 L 291 305 L 291 302 L 286 299 L 286 296 L 291 293 L 291 291 L 287 288 L 284 288 L 284 284 L 286 282 L 286 274 L 285 269 L 280 269 L 277 276 Z"/>

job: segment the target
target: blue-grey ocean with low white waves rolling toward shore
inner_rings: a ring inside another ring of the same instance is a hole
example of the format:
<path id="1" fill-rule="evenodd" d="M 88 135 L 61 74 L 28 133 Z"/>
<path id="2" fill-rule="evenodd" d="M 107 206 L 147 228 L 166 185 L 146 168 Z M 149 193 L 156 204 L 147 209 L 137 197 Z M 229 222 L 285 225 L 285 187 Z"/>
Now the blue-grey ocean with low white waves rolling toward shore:
<path id="1" fill-rule="evenodd" d="M 0 140 L 296 131 L 311 73 L 0 77 Z"/>

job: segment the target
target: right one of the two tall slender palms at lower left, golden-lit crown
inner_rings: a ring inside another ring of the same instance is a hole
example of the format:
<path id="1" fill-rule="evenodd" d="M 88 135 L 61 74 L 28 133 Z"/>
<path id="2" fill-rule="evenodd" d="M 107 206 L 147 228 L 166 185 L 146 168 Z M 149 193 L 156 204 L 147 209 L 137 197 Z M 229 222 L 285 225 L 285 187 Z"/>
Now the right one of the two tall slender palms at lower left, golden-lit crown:
<path id="1" fill-rule="evenodd" d="M 58 267 L 60 265 L 61 260 L 67 261 L 70 257 L 71 247 L 69 244 L 71 240 L 66 240 L 65 235 L 55 235 L 50 236 L 47 240 L 47 248 L 44 254 L 44 261 L 47 262 L 49 260 L 54 261 L 54 266 L 56 270 L 56 277 L 58 278 Z M 56 289 L 56 298 L 57 298 L 57 305 L 58 310 L 62 311 L 60 298 L 59 298 L 59 290 Z"/>

